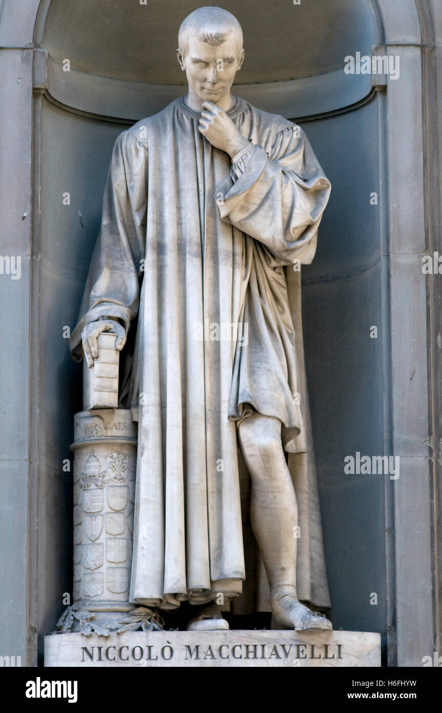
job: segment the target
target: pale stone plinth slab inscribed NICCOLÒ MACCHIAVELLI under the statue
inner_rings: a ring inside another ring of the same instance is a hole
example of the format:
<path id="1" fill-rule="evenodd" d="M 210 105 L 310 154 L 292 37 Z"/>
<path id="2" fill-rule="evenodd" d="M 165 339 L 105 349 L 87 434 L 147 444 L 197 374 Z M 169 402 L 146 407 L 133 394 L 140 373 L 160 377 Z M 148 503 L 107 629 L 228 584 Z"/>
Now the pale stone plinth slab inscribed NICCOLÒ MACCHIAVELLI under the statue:
<path id="1" fill-rule="evenodd" d="M 236 630 L 45 637 L 46 667 L 379 667 L 381 635 Z"/>

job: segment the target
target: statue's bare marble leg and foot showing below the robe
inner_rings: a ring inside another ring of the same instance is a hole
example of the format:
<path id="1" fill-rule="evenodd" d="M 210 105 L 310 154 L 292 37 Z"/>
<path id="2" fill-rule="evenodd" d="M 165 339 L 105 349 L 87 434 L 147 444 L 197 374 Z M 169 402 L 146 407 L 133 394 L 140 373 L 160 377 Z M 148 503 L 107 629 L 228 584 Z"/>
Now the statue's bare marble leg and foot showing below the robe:
<path id="1" fill-rule="evenodd" d="M 238 443 L 251 476 L 251 523 L 270 585 L 273 629 L 331 629 L 298 600 L 298 507 L 278 419 L 253 413 L 238 426 Z"/>

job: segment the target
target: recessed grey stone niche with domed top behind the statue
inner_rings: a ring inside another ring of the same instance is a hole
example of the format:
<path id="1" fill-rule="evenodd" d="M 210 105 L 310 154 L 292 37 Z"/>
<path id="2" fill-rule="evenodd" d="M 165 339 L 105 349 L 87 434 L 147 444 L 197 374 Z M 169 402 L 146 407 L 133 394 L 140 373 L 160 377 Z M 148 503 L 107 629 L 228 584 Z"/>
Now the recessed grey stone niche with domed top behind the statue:
<path id="1" fill-rule="evenodd" d="M 38 379 L 40 453 L 38 631 L 55 628 L 73 591 L 72 488 L 60 478 L 73 416 L 82 410 L 81 369 L 60 340 L 73 327 L 100 225 L 112 144 L 142 116 L 183 94 L 177 31 L 200 3 L 52 0 L 41 17 L 47 56 L 41 102 L 41 264 Z M 296 120 L 332 182 L 317 257 L 302 272 L 305 356 L 334 627 L 386 635 L 386 483 L 344 475 L 344 456 L 384 452 L 379 103 L 370 76 L 346 75 L 344 57 L 382 43 L 369 0 L 286 0 L 223 7 L 244 30 L 238 95 Z M 270 39 L 268 39 L 270 35 Z M 264 41 L 265 38 L 265 41 Z M 68 64 L 66 63 L 68 60 Z M 65 71 L 69 67 L 69 71 Z M 40 125 L 39 125 L 40 126 Z M 375 188 L 373 188 L 375 187 Z M 38 190 L 34 186 L 34 190 Z M 63 205 L 63 195 L 69 195 Z M 344 220 L 342 220 L 344 216 Z M 290 272 L 288 273 L 290 279 Z M 343 348 L 345 347 L 345 348 Z M 54 381 L 56 374 L 56 381 Z M 357 398 L 355 398 L 357 394 Z M 59 533 L 54 538 L 53 533 Z M 378 605 L 370 605 L 375 591 Z"/>

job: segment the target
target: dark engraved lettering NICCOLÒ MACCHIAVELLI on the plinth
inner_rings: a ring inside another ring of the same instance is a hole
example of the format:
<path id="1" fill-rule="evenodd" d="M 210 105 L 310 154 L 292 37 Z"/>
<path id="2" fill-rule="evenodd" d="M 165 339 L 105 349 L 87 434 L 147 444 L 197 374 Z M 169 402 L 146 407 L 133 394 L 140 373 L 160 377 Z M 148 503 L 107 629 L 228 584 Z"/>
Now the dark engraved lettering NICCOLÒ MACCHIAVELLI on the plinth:
<path id="1" fill-rule="evenodd" d="M 342 644 L 221 644 L 221 646 L 189 645 L 179 648 L 172 645 L 147 646 L 82 646 L 81 662 L 100 661 L 171 661 L 227 660 L 227 659 L 322 659 L 340 660 Z"/>

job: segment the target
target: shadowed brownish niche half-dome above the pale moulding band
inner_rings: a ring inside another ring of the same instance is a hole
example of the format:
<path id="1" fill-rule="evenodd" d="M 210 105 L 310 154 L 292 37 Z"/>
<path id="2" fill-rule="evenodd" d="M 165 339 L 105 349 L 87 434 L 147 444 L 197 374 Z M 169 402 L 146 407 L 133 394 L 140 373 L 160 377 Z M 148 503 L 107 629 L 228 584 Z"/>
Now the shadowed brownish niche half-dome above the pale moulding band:
<path id="1" fill-rule="evenodd" d="M 211 4 L 206 0 L 208 4 Z M 204 0 L 52 0 L 43 47 L 78 71 L 114 79 L 185 84 L 175 50 L 179 25 Z M 238 82 L 290 81 L 342 69 L 344 57 L 379 41 L 370 0 L 222 0 L 243 26 Z"/>

